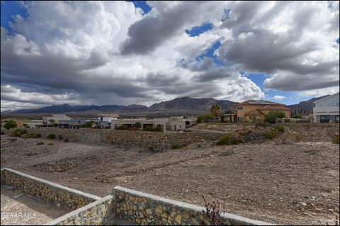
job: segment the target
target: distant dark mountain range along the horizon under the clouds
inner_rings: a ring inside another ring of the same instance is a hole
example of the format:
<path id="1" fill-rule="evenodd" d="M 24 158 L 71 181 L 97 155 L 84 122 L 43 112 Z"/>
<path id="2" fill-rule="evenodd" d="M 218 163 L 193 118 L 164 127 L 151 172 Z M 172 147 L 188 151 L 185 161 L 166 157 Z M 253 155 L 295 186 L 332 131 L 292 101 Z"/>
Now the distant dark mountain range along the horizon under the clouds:
<path id="1" fill-rule="evenodd" d="M 327 95 L 329 96 L 329 95 Z M 319 98 L 324 98 L 321 96 L 318 98 L 312 98 L 308 101 L 301 101 L 300 103 L 288 106 L 292 108 L 293 111 L 306 111 L 307 113 L 312 112 L 314 106 L 313 101 L 317 101 Z M 233 101 L 222 101 L 215 98 L 190 98 L 188 96 L 181 98 L 174 98 L 171 101 L 162 101 L 159 103 L 154 103 L 152 106 L 143 106 L 132 104 L 129 106 L 120 105 L 103 105 L 103 106 L 69 106 L 67 103 L 63 105 L 52 105 L 43 108 L 30 108 L 21 109 L 16 111 L 2 111 L 2 113 L 120 113 L 120 114 L 193 114 L 197 115 L 204 113 L 209 110 L 212 103 L 217 103 L 221 106 L 222 111 L 228 111 L 230 106 L 237 102 Z"/>

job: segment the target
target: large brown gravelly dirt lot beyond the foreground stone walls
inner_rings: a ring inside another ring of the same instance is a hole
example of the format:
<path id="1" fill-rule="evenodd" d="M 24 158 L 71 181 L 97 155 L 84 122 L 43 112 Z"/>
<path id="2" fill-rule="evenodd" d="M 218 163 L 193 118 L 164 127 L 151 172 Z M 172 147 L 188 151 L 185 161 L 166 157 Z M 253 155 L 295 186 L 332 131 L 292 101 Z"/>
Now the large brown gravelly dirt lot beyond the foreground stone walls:
<path id="1" fill-rule="evenodd" d="M 213 146 L 151 153 L 1 135 L 1 167 L 106 196 L 114 186 L 284 225 L 333 224 L 339 216 L 339 145 L 327 141 Z M 36 145 L 42 141 L 44 145 Z M 53 145 L 48 145 L 53 143 Z"/>

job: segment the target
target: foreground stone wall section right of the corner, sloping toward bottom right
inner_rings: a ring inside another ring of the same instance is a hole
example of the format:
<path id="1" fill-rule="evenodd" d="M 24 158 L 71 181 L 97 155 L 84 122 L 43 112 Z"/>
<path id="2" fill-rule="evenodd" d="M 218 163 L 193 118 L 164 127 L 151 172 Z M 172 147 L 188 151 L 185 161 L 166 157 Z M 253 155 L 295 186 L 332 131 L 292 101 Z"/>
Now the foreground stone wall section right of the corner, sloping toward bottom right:
<path id="1" fill-rule="evenodd" d="M 210 225 L 203 210 L 191 205 L 159 196 L 117 186 L 113 188 L 115 217 L 136 222 L 138 225 Z M 225 225 L 271 225 L 229 213 L 222 214 Z"/>

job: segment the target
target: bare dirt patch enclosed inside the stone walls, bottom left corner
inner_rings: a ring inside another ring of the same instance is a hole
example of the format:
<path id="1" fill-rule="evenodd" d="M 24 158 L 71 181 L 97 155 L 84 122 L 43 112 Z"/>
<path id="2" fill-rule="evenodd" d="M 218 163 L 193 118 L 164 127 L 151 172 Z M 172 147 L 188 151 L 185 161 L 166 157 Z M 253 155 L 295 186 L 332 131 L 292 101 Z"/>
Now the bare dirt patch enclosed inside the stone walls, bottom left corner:
<path id="1" fill-rule="evenodd" d="M 42 225 L 66 213 L 69 211 L 1 185 L 1 225 Z"/>

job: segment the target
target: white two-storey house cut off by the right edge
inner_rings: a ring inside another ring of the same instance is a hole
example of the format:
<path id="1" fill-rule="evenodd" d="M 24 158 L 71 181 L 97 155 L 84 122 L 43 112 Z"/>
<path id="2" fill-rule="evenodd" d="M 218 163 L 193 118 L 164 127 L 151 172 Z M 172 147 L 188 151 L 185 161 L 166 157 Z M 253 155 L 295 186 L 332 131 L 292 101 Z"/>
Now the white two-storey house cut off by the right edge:
<path id="1" fill-rule="evenodd" d="M 339 123 L 339 93 L 314 101 L 314 123 Z"/>

